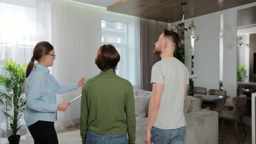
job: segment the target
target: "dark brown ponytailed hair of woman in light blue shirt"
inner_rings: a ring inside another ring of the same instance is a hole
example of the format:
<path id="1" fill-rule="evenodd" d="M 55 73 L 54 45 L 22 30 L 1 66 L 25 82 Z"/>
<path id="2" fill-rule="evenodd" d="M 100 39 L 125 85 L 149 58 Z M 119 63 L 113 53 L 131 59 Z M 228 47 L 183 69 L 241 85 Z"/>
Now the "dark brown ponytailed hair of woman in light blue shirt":
<path id="1" fill-rule="evenodd" d="M 37 43 L 36 46 L 34 46 L 33 56 L 31 58 L 30 63 L 27 65 L 26 77 L 30 75 L 32 69 L 34 68 L 34 60 L 39 61 L 40 58 L 42 58 L 44 55 L 46 55 L 53 49 L 53 45 L 51 45 L 47 41 L 40 41 L 39 43 Z"/>

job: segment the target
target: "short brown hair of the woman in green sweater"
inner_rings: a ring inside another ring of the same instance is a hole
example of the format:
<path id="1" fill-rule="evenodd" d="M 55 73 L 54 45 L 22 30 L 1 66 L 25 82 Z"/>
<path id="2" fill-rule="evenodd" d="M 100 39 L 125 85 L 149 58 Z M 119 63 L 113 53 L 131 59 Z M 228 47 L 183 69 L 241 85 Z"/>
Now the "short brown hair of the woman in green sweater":
<path id="1" fill-rule="evenodd" d="M 95 57 L 95 64 L 102 71 L 117 69 L 120 55 L 113 45 L 102 45 Z"/>

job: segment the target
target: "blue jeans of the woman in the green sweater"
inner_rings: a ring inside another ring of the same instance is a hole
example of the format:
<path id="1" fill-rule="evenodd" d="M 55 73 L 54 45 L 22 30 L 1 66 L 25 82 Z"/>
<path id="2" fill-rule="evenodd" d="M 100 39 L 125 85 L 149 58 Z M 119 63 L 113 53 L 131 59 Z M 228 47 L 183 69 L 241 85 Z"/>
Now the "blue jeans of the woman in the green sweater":
<path id="1" fill-rule="evenodd" d="M 100 135 L 88 130 L 86 144 L 128 144 L 127 134 Z"/>

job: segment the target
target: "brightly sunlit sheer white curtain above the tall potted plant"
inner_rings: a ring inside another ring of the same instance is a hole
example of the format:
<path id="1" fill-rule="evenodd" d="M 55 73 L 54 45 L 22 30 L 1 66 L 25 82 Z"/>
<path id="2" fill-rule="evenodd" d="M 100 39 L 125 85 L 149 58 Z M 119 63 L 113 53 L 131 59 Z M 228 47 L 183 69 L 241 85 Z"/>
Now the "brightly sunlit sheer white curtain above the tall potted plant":
<path id="1" fill-rule="evenodd" d="M 5 59 L 16 63 L 28 63 L 33 55 L 33 47 L 38 41 L 51 40 L 50 5 L 45 1 L 1 0 L 0 1 L 0 64 Z M 1 74 L 0 67 L 0 74 Z M 3 91 L 3 87 L 0 91 Z M 1 116 L 0 116 L 1 117 Z M 2 119 L 2 118 L 1 118 Z M 21 139 L 26 135 L 21 129 Z M 7 121 L 0 122 L 1 139 L 8 137 Z"/>

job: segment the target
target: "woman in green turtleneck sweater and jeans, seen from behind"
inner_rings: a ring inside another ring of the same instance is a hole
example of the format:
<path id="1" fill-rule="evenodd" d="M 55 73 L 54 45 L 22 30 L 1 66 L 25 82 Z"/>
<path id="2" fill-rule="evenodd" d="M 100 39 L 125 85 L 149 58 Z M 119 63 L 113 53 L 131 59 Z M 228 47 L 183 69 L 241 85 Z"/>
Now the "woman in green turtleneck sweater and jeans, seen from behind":
<path id="1" fill-rule="evenodd" d="M 119 60 L 113 45 L 102 45 L 96 53 L 95 63 L 101 72 L 87 79 L 82 90 L 83 144 L 135 143 L 133 88 L 129 81 L 115 74 Z"/>

